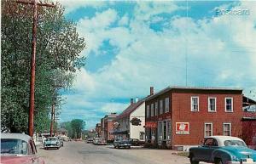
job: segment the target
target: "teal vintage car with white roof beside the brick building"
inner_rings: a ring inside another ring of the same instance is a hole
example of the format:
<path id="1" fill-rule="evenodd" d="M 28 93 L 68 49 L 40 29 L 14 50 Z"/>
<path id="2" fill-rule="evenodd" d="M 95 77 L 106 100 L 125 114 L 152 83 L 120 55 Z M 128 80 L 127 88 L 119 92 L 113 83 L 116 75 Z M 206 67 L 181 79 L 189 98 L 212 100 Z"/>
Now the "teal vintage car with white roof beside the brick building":
<path id="1" fill-rule="evenodd" d="M 189 149 L 191 164 L 205 161 L 215 164 L 256 164 L 256 151 L 247 148 L 242 139 L 230 136 L 210 136 L 199 147 Z"/>

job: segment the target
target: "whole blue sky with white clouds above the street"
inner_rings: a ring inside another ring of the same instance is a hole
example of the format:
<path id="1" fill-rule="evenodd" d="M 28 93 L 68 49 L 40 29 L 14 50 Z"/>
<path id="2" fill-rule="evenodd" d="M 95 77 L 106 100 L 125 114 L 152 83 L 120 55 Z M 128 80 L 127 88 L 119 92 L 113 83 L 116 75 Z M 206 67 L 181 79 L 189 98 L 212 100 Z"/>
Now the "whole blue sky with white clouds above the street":
<path id="1" fill-rule="evenodd" d="M 256 3 L 252 1 L 62 0 L 87 48 L 61 122 L 95 127 L 109 112 L 170 85 L 236 87 L 256 92 Z M 249 10 L 217 15 L 216 8 Z M 187 62 L 186 62 L 187 61 Z M 256 94 L 256 93 L 255 93 Z M 254 97 L 256 99 L 256 97 Z"/>

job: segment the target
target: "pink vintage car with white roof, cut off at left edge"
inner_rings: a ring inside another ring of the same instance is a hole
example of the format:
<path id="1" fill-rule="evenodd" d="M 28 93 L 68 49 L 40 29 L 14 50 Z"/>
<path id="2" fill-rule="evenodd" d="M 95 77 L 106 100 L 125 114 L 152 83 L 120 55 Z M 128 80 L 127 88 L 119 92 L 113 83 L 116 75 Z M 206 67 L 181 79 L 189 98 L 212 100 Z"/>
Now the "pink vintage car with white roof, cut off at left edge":
<path id="1" fill-rule="evenodd" d="M 33 139 L 22 133 L 1 133 L 1 164 L 44 164 Z"/>

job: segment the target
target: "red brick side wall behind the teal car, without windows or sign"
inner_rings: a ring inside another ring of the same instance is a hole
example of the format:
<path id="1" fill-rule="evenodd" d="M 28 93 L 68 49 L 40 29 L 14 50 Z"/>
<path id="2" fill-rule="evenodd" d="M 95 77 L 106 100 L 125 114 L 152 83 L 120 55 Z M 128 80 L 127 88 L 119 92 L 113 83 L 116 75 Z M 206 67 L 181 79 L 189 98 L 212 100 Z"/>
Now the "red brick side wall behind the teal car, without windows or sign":
<path id="1" fill-rule="evenodd" d="M 191 111 L 191 96 L 199 96 L 199 111 Z M 216 112 L 208 112 L 208 97 L 217 98 Z M 233 98 L 233 112 L 225 112 L 225 97 Z M 231 135 L 241 136 L 241 93 L 172 93 L 172 144 L 201 144 L 205 122 L 212 122 L 212 135 L 223 135 L 223 123 L 231 123 Z M 189 122 L 189 134 L 176 134 L 176 122 Z"/>

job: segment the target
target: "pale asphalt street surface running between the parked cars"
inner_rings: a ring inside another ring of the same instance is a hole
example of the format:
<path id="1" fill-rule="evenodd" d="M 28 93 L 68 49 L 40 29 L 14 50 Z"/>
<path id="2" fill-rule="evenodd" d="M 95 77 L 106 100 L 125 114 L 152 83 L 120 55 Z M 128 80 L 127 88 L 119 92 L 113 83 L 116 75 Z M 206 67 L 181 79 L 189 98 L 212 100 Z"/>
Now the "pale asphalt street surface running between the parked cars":
<path id="1" fill-rule="evenodd" d="M 65 142 L 60 150 L 38 149 L 46 164 L 189 164 L 184 156 L 172 155 L 172 150 L 150 150 L 141 147 L 113 149 L 84 142 Z"/>

